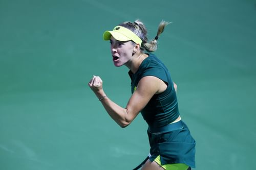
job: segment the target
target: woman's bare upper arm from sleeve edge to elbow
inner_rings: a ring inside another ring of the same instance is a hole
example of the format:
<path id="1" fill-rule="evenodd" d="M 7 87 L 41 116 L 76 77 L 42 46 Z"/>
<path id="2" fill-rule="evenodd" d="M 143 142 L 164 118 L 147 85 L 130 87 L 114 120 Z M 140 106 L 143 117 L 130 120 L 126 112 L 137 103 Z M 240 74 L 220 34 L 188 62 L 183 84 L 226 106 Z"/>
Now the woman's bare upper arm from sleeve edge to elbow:
<path id="1" fill-rule="evenodd" d="M 162 80 L 154 76 L 143 77 L 134 91 L 129 102 L 127 103 L 127 122 L 132 120 L 139 114 L 139 112 L 151 100 L 154 94 L 162 92 L 166 85 Z"/>

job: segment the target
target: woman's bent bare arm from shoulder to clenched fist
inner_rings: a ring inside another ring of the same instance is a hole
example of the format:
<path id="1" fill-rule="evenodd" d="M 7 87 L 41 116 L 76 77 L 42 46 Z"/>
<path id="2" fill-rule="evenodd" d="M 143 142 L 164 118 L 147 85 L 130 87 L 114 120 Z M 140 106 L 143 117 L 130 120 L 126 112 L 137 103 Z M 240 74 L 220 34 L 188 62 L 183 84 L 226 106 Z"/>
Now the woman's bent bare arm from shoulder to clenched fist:
<path id="1" fill-rule="evenodd" d="M 105 96 L 102 89 L 102 80 L 99 77 L 94 77 L 90 81 L 89 86 L 98 99 Z M 101 103 L 115 122 L 124 128 L 131 124 L 154 94 L 164 91 L 166 87 L 160 79 L 153 76 L 146 76 L 139 81 L 136 91 L 131 96 L 125 108 L 120 107 L 107 96 L 101 100 Z"/>

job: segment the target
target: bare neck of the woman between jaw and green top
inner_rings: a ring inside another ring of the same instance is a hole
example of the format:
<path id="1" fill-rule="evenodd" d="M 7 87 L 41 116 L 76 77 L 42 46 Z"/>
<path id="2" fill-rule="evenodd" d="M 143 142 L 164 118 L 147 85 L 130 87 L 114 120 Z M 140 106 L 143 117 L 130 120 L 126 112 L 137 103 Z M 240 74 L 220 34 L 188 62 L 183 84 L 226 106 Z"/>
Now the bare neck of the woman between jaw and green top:
<path id="1" fill-rule="evenodd" d="M 132 59 L 125 65 L 132 71 L 133 74 L 137 72 L 142 61 L 147 57 L 144 53 L 135 53 Z"/>

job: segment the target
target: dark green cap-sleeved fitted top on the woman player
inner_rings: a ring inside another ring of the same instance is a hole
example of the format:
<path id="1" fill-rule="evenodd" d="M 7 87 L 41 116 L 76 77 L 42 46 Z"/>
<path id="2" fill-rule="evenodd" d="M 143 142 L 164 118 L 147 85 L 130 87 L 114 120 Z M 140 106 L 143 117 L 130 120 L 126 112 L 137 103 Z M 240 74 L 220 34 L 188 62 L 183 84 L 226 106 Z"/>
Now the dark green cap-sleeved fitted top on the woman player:
<path id="1" fill-rule="evenodd" d="M 154 54 L 147 55 L 148 57 L 143 60 L 135 74 L 129 71 L 132 93 L 137 89 L 140 79 L 145 76 L 155 76 L 167 85 L 164 92 L 155 94 L 141 110 L 148 126 L 161 127 L 174 122 L 179 117 L 178 101 L 168 69 Z"/>

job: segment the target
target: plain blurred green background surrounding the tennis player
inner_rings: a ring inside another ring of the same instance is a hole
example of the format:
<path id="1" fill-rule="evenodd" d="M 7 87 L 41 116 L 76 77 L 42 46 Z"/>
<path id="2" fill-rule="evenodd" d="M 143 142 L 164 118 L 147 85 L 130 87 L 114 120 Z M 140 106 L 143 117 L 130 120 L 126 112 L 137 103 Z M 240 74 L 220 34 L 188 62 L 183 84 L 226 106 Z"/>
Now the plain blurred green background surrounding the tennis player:
<path id="1" fill-rule="evenodd" d="M 119 128 L 87 86 L 130 98 L 127 68 L 102 33 L 144 21 L 178 84 L 182 119 L 197 140 L 196 169 L 253 169 L 256 1 L 0 0 L 0 169 L 132 169 L 149 152 L 139 115 Z"/>

